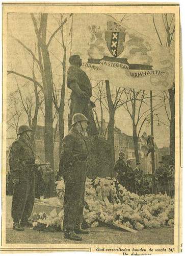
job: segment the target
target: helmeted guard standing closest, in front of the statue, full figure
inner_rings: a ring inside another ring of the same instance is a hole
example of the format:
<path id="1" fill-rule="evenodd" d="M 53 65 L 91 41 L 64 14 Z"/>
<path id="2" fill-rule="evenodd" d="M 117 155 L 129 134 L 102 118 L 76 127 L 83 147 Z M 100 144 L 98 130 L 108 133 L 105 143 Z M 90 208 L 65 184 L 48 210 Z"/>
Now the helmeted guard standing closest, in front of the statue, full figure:
<path id="1" fill-rule="evenodd" d="M 84 210 L 84 194 L 88 149 L 84 139 L 88 119 L 81 113 L 72 118 L 72 127 L 64 137 L 60 156 L 59 173 L 64 178 L 64 236 L 82 241 L 79 233 L 89 233 L 81 228 Z"/>

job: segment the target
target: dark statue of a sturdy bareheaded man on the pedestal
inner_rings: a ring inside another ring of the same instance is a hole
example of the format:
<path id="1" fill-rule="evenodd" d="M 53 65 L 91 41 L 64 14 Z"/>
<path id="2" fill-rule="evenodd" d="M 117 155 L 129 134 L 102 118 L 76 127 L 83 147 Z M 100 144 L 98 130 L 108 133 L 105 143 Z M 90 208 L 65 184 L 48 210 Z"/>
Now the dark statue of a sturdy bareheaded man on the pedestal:
<path id="1" fill-rule="evenodd" d="M 88 135 L 97 135 L 97 128 L 94 121 L 94 103 L 90 100 L 92 96 L 92 85 L 87 74 L 81 69 L 82 59 L 79 55 L 72 55 L 69 58 L 70 67 L 67 72 L 67 87 L 72 90 L 70 96 L 70 113 L 68 119 L 69 130 L 72 117 L 76 113 L 84 114 L 88 120 Z"/>

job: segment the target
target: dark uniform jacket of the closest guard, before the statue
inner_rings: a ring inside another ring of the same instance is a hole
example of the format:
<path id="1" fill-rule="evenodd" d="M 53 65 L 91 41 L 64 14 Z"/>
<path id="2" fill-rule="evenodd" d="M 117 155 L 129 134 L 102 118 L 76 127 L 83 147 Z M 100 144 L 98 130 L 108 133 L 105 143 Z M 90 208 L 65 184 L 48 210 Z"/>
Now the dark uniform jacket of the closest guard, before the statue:
<path id="1" fill-rule="evenodd" d="M 59 174 L 63 175 L 69 168 L 73 168 L 77 162 L 86 161 L 88 148 L 83 135 L 72 127 L 64 137 L 60 156 Z"/>

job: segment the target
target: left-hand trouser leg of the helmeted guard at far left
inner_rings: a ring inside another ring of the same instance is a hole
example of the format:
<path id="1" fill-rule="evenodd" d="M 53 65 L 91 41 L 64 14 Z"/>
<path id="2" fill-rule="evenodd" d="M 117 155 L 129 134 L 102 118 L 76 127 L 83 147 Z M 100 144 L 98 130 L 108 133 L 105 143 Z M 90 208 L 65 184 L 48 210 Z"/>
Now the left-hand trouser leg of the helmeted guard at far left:
<path id="1" fill-rule="evenodd" d="M 14 221 L 19 221 L 22 218 L 29 189 L 28 179 L 20 179 L 19 183 L 14 184 L 11 212 Z"/>

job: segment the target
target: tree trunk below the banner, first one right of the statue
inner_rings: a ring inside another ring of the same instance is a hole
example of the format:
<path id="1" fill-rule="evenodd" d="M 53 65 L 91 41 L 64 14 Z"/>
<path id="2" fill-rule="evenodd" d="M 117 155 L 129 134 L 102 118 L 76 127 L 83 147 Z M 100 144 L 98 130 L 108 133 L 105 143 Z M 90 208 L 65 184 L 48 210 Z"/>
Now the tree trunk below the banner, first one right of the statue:
<path id="1" fill-rule="evenodd" d="M 114 150 L 114 123 L 115 123 L 115 112 L 114 106 L 111 99 L 111 90 L 109 81 L 105 81 L 106 84 L 106 92 L 107 92 L 107 99 L 108 99 L 108 106 L 109 106 L 109 124 L 108 124 L 108 142 L 111 145 L 111 155 L 112 155 L 112 168 L 115 163 L 115 150 Z"/>

